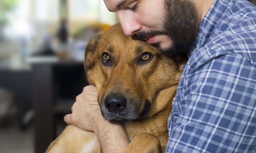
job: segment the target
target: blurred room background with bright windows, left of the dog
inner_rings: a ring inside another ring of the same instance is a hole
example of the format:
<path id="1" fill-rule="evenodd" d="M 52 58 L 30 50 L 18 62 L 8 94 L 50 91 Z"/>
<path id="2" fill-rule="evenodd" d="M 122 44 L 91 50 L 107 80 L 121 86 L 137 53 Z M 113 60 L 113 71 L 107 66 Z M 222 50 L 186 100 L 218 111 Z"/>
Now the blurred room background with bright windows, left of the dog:
<path id="1" fill-rule="evenodd" d="M 0 153 L 45 152 L 87 85 L 87 43 L 117 22 L 103 0 L 0 0 Z"/>

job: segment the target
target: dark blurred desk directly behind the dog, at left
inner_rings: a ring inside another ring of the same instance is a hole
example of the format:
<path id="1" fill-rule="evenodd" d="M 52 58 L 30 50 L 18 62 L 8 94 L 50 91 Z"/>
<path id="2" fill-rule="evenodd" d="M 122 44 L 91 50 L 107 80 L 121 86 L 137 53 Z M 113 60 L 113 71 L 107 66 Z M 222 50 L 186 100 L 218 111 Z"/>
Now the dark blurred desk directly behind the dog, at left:
<path id="1" fill-rule="evenodd" d="M 32 63 L 35 153 L 45 153 L 56 135 L 56 115 L 68 114 L 87 86 L 83 62 Z"/>

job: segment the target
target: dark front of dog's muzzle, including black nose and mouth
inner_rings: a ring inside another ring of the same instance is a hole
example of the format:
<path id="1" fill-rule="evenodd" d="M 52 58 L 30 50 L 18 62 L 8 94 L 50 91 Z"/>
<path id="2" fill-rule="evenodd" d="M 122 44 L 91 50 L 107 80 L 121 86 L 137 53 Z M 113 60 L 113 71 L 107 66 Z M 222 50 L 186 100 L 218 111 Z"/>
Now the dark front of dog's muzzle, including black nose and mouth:
<path id="1" fill-rule="evenodd" d="M 109 94 L 101 100 L 102 115 L 106 120 L 137 120 L 148 113 L 151 104 L 148 99 L 140 101 L 138 99 L 126 98 L 121 93 Z"/>

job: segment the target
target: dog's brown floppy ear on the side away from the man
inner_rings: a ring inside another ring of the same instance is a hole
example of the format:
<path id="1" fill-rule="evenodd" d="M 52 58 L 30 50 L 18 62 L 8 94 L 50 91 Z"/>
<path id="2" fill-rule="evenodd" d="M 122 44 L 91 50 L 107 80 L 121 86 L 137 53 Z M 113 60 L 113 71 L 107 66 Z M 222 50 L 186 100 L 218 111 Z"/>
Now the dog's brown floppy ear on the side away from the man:
<path id="1" fill-rule="evenodd" d="M 98 46 L 98 41 L 100 39 L 100 35 L 95 36 L 86 46 L 85 48 L 85 56 L 84 56 L 84 69 L 87 72 L 94 67 L 95 60 L 95 50 Z"/>

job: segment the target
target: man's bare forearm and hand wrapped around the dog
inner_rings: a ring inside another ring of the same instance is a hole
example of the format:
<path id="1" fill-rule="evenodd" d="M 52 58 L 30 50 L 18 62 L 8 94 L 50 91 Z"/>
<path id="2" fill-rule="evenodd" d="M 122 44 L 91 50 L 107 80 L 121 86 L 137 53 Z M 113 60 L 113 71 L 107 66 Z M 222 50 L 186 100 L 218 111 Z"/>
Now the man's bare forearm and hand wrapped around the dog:
<path id="1" fill-rule="evenodd" d="M 86 86 L 76 97 L 72 113 L 64 117 L 67 124 L 73 124 L 85 131 L 94 131 L 103 152 L 122 152 L 130 140 L 122 125 L 105 120 L 100 112 L 95 86 Z"/>

